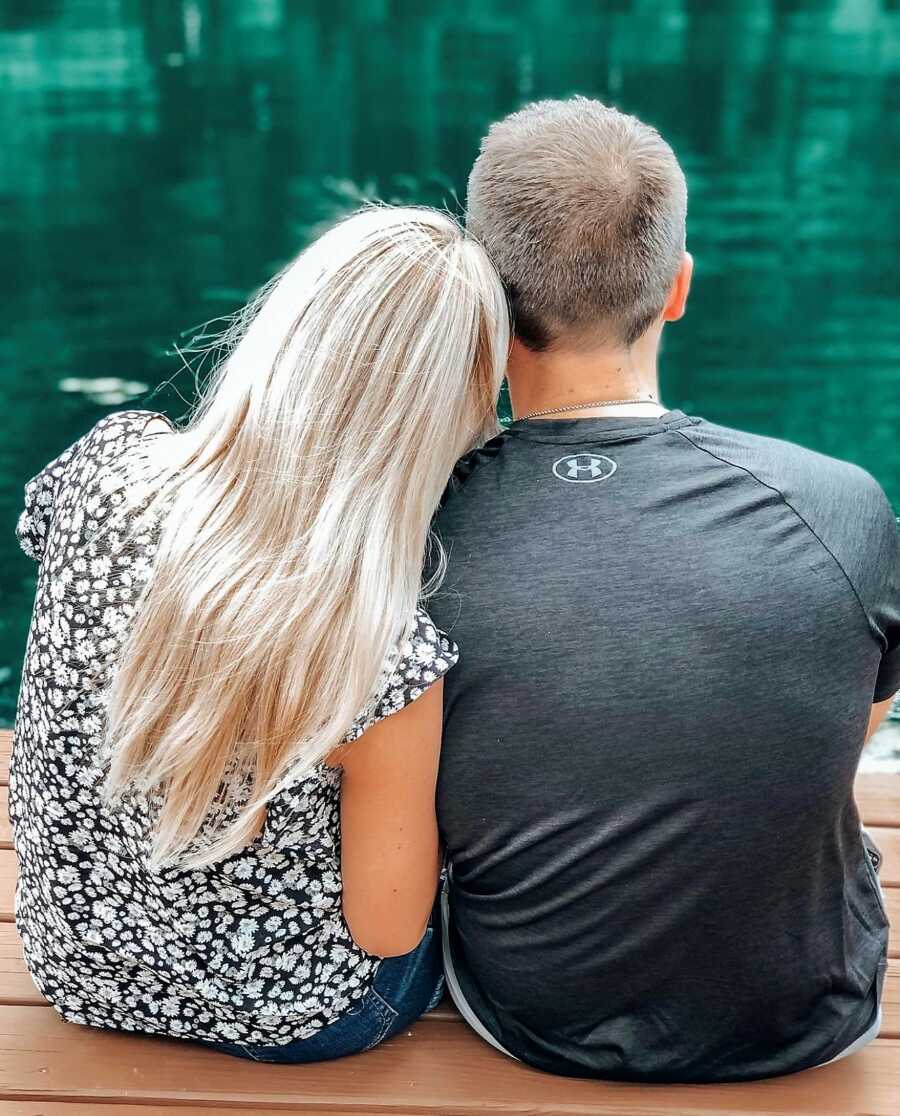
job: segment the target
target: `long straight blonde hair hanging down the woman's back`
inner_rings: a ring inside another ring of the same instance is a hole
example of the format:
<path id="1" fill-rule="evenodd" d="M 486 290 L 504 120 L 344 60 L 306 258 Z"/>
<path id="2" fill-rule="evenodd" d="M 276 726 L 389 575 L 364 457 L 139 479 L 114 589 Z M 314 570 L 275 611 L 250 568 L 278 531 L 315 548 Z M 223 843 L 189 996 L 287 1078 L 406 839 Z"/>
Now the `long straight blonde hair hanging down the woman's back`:
<path id="1" fill-rule="evenodd" d="M 347 218 L 248 318 L 150 451 L 165 513 L 108 694 L 107 800 L 159 800 L 157 865 L 245 847 L 372 706 L 447 479 L 497 430 L 507 305 L 443 213 Z"/>

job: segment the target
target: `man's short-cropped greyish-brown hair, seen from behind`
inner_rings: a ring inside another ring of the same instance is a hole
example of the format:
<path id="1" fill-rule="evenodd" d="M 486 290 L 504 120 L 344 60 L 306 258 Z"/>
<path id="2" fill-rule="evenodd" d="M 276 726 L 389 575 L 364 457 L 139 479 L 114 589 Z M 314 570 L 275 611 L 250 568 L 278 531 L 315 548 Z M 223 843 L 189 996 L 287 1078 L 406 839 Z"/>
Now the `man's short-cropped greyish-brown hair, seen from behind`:
<path id="1" fill-rule="evenodd" d="M 494 124 L 467 225 L 492 257 L 533 349 L 630 345 L 662 312 L 684 251 L 687 186 L 655 128 L 587 97 Z"/>

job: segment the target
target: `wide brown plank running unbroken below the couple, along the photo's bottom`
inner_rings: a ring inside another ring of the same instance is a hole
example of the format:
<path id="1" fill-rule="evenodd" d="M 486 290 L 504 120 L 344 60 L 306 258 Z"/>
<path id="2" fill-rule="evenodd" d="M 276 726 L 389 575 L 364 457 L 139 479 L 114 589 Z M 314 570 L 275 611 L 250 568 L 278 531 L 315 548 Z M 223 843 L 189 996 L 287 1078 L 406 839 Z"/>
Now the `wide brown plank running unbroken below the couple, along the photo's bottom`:
<path id="1" fill-rule="evenodd" d="M 63 1023 L 45 1008 L 0 1008 L 0 1096 L 266 1107 L 310 1113 L 565 1113 L 567 1116 L 897 1116 L 900 1042 L 741 1085 L 640 1087 L 558 1078 L 498 1054 L 461 1022 L 418 1026 L 337 1062 L 265 1066 L 189 1043 Z M 38 1109 L 41 1112 L 42 1109 Z"/>

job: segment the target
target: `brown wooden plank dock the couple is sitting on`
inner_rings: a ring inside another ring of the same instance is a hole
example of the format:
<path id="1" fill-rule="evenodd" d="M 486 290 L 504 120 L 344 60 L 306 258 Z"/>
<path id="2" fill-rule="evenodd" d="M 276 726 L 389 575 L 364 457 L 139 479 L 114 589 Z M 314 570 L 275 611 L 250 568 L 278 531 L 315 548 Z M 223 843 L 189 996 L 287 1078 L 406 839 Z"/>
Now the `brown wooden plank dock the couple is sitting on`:
<path id="1" fill-rule="evenodd" d="M 478 1039 L 449 1007 L 368 1054 L 294 1067 L 60 1022 L 31 983 L 12 921 L 9 747 L 10 734 L 0 732 L 0 1116 L 900 1114 L 900 776 L 861 776 L 856 791 L 863 819 L 884 854 L 882 882 L 897 927 L 879 1039 L 833 1066 L 785 1078 L 639 1086 L 528 1069 Z"/>

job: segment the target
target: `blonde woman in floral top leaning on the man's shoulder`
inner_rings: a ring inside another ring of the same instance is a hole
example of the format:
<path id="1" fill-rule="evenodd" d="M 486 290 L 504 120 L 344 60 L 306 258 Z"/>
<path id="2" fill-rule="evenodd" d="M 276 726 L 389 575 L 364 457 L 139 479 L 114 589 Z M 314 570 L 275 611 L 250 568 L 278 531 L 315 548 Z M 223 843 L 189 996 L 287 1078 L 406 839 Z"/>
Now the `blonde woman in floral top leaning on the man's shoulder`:
<path id="1" fill-rule="evenodd" d="M 389 208 L 243 320 L 184 430 L 111 415 L 27 487 L 17 921 L 67 1020 L 310 1061 L 440 990 L 457 651 L 418 603 L 508 320 L 452 220 Z"/>

